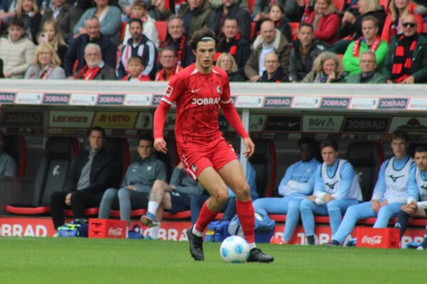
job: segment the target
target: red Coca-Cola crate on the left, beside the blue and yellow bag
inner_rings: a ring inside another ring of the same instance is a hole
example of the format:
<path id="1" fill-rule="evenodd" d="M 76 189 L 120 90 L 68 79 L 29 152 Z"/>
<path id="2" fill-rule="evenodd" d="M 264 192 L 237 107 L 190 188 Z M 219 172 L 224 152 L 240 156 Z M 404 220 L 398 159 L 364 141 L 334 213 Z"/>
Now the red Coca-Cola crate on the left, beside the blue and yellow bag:
<path id="1" fill-rule="evenodd" d="M 113 219 L 89 219 L 89 238 L 125 239 L 127 222 Z"/>

